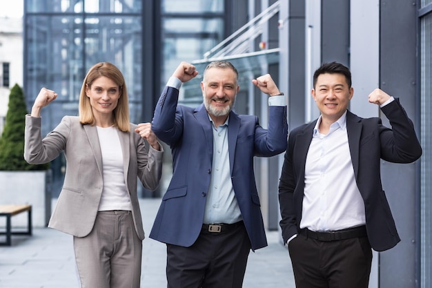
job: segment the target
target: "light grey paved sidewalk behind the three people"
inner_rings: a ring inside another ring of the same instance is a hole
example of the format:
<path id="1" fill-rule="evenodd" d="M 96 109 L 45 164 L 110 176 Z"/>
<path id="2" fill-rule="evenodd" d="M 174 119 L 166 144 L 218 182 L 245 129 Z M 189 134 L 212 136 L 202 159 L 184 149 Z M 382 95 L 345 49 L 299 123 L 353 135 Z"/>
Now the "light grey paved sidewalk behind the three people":
<path id="1" fill-rule="evenodd" d="M 150 233 L 160 201 L 148 198 L 140 201 L 146 235 Z M 267 240 L 268 247 L 249 254 L 243 287 L 295 287 L 288 251 L 279 242 L 279 232 L 268 232 Z M 141 287 L 166 287 L 165 244 L 146 238 L 143 247 Z M 12 236 L 12 246 L 0 247 L 0 288 L 30 287 L 78 287 L 72 236 L 36 228 L 33 236 Z"/>

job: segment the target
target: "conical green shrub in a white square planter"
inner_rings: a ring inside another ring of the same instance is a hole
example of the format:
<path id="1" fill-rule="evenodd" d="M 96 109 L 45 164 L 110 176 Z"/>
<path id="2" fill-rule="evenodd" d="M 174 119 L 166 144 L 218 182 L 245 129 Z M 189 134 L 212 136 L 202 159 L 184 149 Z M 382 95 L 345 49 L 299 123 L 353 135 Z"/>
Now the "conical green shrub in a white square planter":
<path id="1" fill-rule="evenodd" d="M 0 138 L 0 204 L 32 204 L 33 226 L 45 227 L 51 214 L 50 163 L 32 165 L 23 158 L 27 113 L 23 90 L 15 84 Z M 24 215 L 16 218 L 14 225 L 26 225 Z"/>

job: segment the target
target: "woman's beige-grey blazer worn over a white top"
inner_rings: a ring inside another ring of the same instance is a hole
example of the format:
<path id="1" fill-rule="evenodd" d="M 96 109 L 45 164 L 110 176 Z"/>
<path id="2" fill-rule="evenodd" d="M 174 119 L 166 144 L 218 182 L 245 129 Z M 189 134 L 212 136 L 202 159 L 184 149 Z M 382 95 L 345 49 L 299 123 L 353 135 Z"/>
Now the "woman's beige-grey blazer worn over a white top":
<path id="1" fill-rule="evenodd" d="M 162 170 L 163 151 L 151 146 L 135 133 L 119 131 L 124 159 L 124 179 L 132 203 L 132 215 L 137 235 L 144 239 L 141 211 L 137 197 L 137 178 L 146 189 L 155 190 Z M 41 138 L 41 117 L 26 115 L 24 158 L 30 164 L 50 162 L 61 151 L 66 157 L 63 187 L 48 227 L 77 237 L 92 231 L 104 185 L 102 155 L 96 126 L 79 123 L 79 117 L 65 116 L 61 123 Z"/>

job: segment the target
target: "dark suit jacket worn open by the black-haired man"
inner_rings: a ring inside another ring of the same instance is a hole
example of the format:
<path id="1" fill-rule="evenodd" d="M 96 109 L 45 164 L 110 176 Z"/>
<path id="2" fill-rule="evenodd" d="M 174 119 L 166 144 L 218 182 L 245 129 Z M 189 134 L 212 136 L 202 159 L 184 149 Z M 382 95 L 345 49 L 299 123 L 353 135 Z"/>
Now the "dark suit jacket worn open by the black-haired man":
<path id="1" fill-rule="evenodd" d="M 346 131 L 355 180 L 364 200 L 369 242 L 376 251 L 390 249 L 400 241 L 382 190 L 380 160 L 410 163 L 422 155 L 413 123 L 399 100 L 395 99 L 381 110 L 389 119 L 392 129 L 382 125 L 378 117 L 360 118 L 350 111 L 346 113 Z M 285 243 L 298 233 L 302 220 L 304 168 L 316 122 L 293 129 L 288 139 L 279 182 L 280 226 Z"/>

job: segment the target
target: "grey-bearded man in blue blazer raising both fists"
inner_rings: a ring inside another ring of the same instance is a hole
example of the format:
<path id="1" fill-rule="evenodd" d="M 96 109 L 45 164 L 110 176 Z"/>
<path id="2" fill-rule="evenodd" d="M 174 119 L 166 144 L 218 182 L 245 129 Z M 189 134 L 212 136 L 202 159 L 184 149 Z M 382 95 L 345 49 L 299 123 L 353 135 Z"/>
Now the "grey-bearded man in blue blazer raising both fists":
<path id="1" fill-rule="evenodd" d="M 270 95 L 268 130 L 232 111 L 237 69 L 215 61 L 204 70 L 204 103 L 177 105 L 181 83 L 197 76 L 181 62 L 155 108 L 152 129 L 170 145 L 173 177 L 150 238 L 167 244 L 168 287 L 242 287 L 250 249 L 266 247 L 253 157 L 286 149 L 286 99 L 270 75 L 253 83 Z"/>

